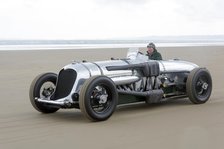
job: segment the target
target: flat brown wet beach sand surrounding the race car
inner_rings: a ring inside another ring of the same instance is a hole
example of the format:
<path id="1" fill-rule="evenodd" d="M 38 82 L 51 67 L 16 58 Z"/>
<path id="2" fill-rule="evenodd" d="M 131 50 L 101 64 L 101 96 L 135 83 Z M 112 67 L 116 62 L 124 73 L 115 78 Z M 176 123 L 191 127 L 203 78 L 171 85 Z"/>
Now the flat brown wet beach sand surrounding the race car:
<path id="1" fill-rule="evenodd" d="M 90 122 L 77 109 L 41 114 L 28 96 L 35 76 L 58 73 L 72 60 L 123 58 L 127 49 L 0 51 L 0 148 L 223 148 L 224 47 L 158 50 L 164 59 L 179 58 L 209 69 L 213 92 L 207 103 L 180 99 L 124 106 L 104 122 Z"/>

